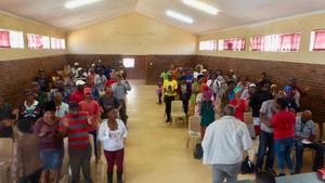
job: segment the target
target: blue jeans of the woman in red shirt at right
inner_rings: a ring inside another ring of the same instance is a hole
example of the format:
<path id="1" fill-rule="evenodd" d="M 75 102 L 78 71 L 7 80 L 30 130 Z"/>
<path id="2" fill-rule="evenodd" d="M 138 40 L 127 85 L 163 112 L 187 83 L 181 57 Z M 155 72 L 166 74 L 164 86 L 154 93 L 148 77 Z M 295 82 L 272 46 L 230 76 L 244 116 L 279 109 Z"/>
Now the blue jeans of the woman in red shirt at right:
<path id="1" fill-rule="evenodd" d="M 292 159 L 290 157 L 291 148 L 295 144 L 295 136 L 289 136 L 281 140 L 274 140 L 275 152 L 277 156 L 277 167 L 280 173 L 284 173 L 284 160 L 287 162 L 290 172 L 295 173 Z"/>

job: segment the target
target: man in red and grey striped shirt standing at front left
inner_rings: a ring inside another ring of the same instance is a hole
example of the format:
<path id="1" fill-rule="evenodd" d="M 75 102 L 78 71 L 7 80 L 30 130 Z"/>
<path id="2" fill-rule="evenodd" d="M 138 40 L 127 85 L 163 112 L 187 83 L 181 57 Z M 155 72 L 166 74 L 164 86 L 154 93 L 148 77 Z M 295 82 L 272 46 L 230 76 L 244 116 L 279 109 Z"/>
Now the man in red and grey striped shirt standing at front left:
<path id="1" fill-rule="evenodd" d="M 84 183 L 92 183 L 90 174 L 91 144 L 89 142 L 89 128 L 93 127 L 87 113 L 80 112 L 76 102 L 69 104 L 69 114 L 61 118 L 58 131 L 68 138 L 68 154 L 72 169 L 72 182 L 79 183 L 80 168 Z"/>

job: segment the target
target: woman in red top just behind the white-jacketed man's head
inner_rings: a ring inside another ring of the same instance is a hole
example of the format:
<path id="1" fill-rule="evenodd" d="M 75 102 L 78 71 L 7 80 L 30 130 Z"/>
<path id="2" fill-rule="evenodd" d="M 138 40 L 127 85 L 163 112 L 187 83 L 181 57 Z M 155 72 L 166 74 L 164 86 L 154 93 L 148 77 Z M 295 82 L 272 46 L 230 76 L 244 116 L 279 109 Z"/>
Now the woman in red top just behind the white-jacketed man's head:
<path id="1" fill-rule="evenodd" d="M 242 95 L 242 89 L 240 87 L 236 87 L 234 89 L 235 97 L 230 101 L 230 104 L 235 106 L 236 113 L 235 118 L 239 119 L 240 121 L 244 121 L 244 113 L 247 110 L 248 106 L 246 105 L 246 101 L 240 99 Z"/>

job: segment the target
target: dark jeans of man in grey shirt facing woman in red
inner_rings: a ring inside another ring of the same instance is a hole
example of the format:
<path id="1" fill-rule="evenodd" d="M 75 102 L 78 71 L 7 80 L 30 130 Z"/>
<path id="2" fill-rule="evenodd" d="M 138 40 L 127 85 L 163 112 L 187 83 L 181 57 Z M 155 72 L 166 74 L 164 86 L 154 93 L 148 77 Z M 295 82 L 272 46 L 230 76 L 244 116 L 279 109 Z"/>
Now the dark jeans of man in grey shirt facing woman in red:
<path id="1" fill-rule="evenodd" d="M 264 154 L 266 152 L 266 147 L 269 147 L 269 153 L 265 161 L 265 169 L 273 169 L 273 162 L 275 158 L 275 149 L 274 149 L 274 139 L 273 133 L 268 133 L 261 130 L 260 133 L 260 144 L 259 151 L 257 155 L 256 167 L 262 169 Z"/>

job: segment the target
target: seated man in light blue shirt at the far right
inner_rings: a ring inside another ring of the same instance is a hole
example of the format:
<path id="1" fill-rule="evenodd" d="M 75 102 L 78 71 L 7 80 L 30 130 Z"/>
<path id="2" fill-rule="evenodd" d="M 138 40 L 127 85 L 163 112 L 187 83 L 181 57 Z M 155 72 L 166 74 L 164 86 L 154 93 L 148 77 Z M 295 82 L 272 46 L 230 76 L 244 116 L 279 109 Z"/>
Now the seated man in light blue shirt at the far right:
<path id="1" fill-rule="evenodd" d="M 312 113 L 310 110 L 304 110 L 301 116 L 296 118 L 295 133 L 296 173 L 300 173 L 304 147 L 316 151 L 312 170 L 316 171 L 317 169 L 323 168 L 324 146 L 321 143 L 314 141 L 316 133 L 315 126 L 312 120 Z"/>

